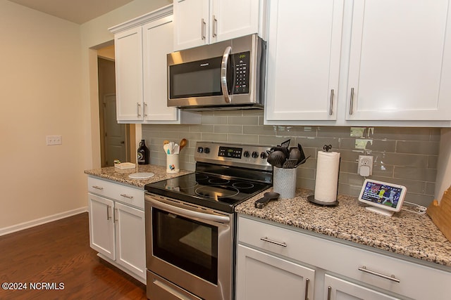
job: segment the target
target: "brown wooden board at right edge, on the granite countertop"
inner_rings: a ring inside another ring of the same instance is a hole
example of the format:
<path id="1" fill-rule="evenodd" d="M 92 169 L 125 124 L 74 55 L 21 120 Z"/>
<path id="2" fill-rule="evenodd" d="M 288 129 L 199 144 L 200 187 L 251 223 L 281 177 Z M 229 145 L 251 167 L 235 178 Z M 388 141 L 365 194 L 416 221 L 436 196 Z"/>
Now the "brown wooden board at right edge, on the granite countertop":
<path id="1" fill-rule="evenodd" d="M 451 187 L 443 194 L 440 205 L 437 200 L 433 200 L 428 207 L 428 216 L 431 217 L 435 226 L 451 242 Z"/>

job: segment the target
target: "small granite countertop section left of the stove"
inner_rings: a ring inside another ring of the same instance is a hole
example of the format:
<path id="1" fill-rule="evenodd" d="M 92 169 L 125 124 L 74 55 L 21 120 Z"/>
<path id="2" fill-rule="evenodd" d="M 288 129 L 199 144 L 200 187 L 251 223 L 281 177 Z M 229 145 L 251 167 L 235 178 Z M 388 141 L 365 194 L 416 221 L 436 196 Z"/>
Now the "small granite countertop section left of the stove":
<path id="1" fill-rule="evenodd" d="M 154 183 L 156 181 L 162 181 L 165 179 L 170 179 L 185 174 L 193 173 L 193 171 L 180 170 L 180 172 L 175 174 L 166 173 L 166 167 L 157 166 L 155 164 L 138 164 L 137 169 L 117 169 L 116 167 L 105 167 L 101 169 L 86 170 L 85 174 L 96 176 L 99 178 L 109 179 L 111 181 L 117 181 L 119 183 L 125 183 L 129 185 L 134 185 L 138 188 L 144 189 L 144 185 L 147 183 Z M 147 179 L 132 179 L 128 175 L 137 172 L 151 172 L 155 175 Z"/>

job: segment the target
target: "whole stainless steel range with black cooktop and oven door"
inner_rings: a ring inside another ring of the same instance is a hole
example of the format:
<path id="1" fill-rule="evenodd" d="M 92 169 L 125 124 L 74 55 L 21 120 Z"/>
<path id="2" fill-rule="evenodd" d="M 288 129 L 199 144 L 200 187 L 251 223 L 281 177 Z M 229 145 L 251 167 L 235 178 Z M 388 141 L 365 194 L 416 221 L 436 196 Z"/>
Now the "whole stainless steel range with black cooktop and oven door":
<path id="1" fill-rule="evenodd" d="M 234 210 L 271 186 L 268 150 L 197 142 L 194 173 L 145 185 L 149 299 L 233 299 Z"/>

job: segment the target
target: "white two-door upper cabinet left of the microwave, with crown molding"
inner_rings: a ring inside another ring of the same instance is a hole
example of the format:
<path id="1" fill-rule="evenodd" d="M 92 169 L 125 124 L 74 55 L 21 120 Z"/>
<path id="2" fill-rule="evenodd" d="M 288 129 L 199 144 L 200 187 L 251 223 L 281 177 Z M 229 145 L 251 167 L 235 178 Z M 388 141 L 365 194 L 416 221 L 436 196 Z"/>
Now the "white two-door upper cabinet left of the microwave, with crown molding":
<path id="1" fill-rule="evenodd" d="M 172 6 L 110 30 L 115 34 L 118 123 L 199 124 L 199 113 L 167 105 L 166 55 L 173 51 Z"/>

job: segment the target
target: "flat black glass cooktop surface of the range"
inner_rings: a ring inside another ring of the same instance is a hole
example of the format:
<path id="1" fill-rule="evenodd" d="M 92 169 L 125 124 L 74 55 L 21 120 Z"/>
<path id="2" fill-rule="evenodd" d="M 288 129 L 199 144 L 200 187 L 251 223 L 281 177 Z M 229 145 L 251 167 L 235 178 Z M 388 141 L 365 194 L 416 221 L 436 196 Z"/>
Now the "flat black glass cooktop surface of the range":
<path id="1" fill-rule="evenodd" d="M 257 195 L 271 183 L 248 181 L 228 176 L 192 173 L 165 181 L 149 183 L 145 190 L 175 200 L 233 212 L 237 204 Z"/>

